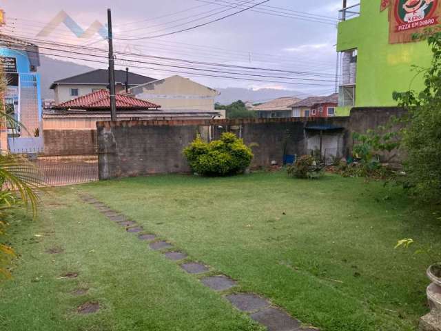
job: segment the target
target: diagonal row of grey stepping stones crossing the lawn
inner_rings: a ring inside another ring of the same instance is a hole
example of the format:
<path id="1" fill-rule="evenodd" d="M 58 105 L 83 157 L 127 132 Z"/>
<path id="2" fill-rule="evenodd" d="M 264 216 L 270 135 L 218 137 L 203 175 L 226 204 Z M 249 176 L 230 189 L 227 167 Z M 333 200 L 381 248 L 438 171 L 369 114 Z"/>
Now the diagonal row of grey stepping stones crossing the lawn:
<path id="1" fill-rule="evenodd" d="M 136 225 L 134 221 L 130 221 L 123 214 L 108 208 L 105 204 L 96 200 L 94 197 L 88 194 L 81 194 L 79 197 L 81 197 L 81 199 L 83 199 L 83 201 L 86 203 L 94 205 L 97 210 L 105 214 L 108 219 L 115 221 L 116 224 L 125 226 L 126 228 L 132 227 L 127 228 L 127 232 L 143 232 L 143 228 L 141 226 Z M 149 247 L 152 250 L 161 251 L 173 247 L 172 244 L 167 243 L 167 241 L 155 241 L 157 239 L 155 234 L 141 233 L 139 234 L 138 239 L 141 241 L 150 241 Z M 166 251 L 163 252 L 163 255 L 166 259 L 172 261 L 181 261 L 187 259 L 187 254 L 179 251 Z M 198 275 L 209 272 L 209 268 L 202 263 L 187 262 L 181 264 L 180 267 L 188 274 Z M 74 277 L 76 276 L 78 276 L 78 274 L 75 274 Z M 201 279 L 201 283 L 217 292 L 230 290 L 234 288 L 234 286 L 238 285 L 236 281 L 223 274 L 218 276 L 204 277 Z M 294 319 L 280 308 L 271 305 L 268 299 L 259 297 L 254 293 L 229 294 L 225 296 L 225 299 L 227 299 L 227 301 L 234 305 L 234 307 L 238 310 L 244 312 L 245 314 L 249 314 L 251 319 L 267 327 L 268 331 L 319 331 L 316 328 L 302 328 L 302 323 L 300 321 Z M 93 312 L 97 312 L 99 308 L 100 306 L 98 302 L 90 301 L 79 306 L 76 311 L 79 314 L 91 314 Z"/>

